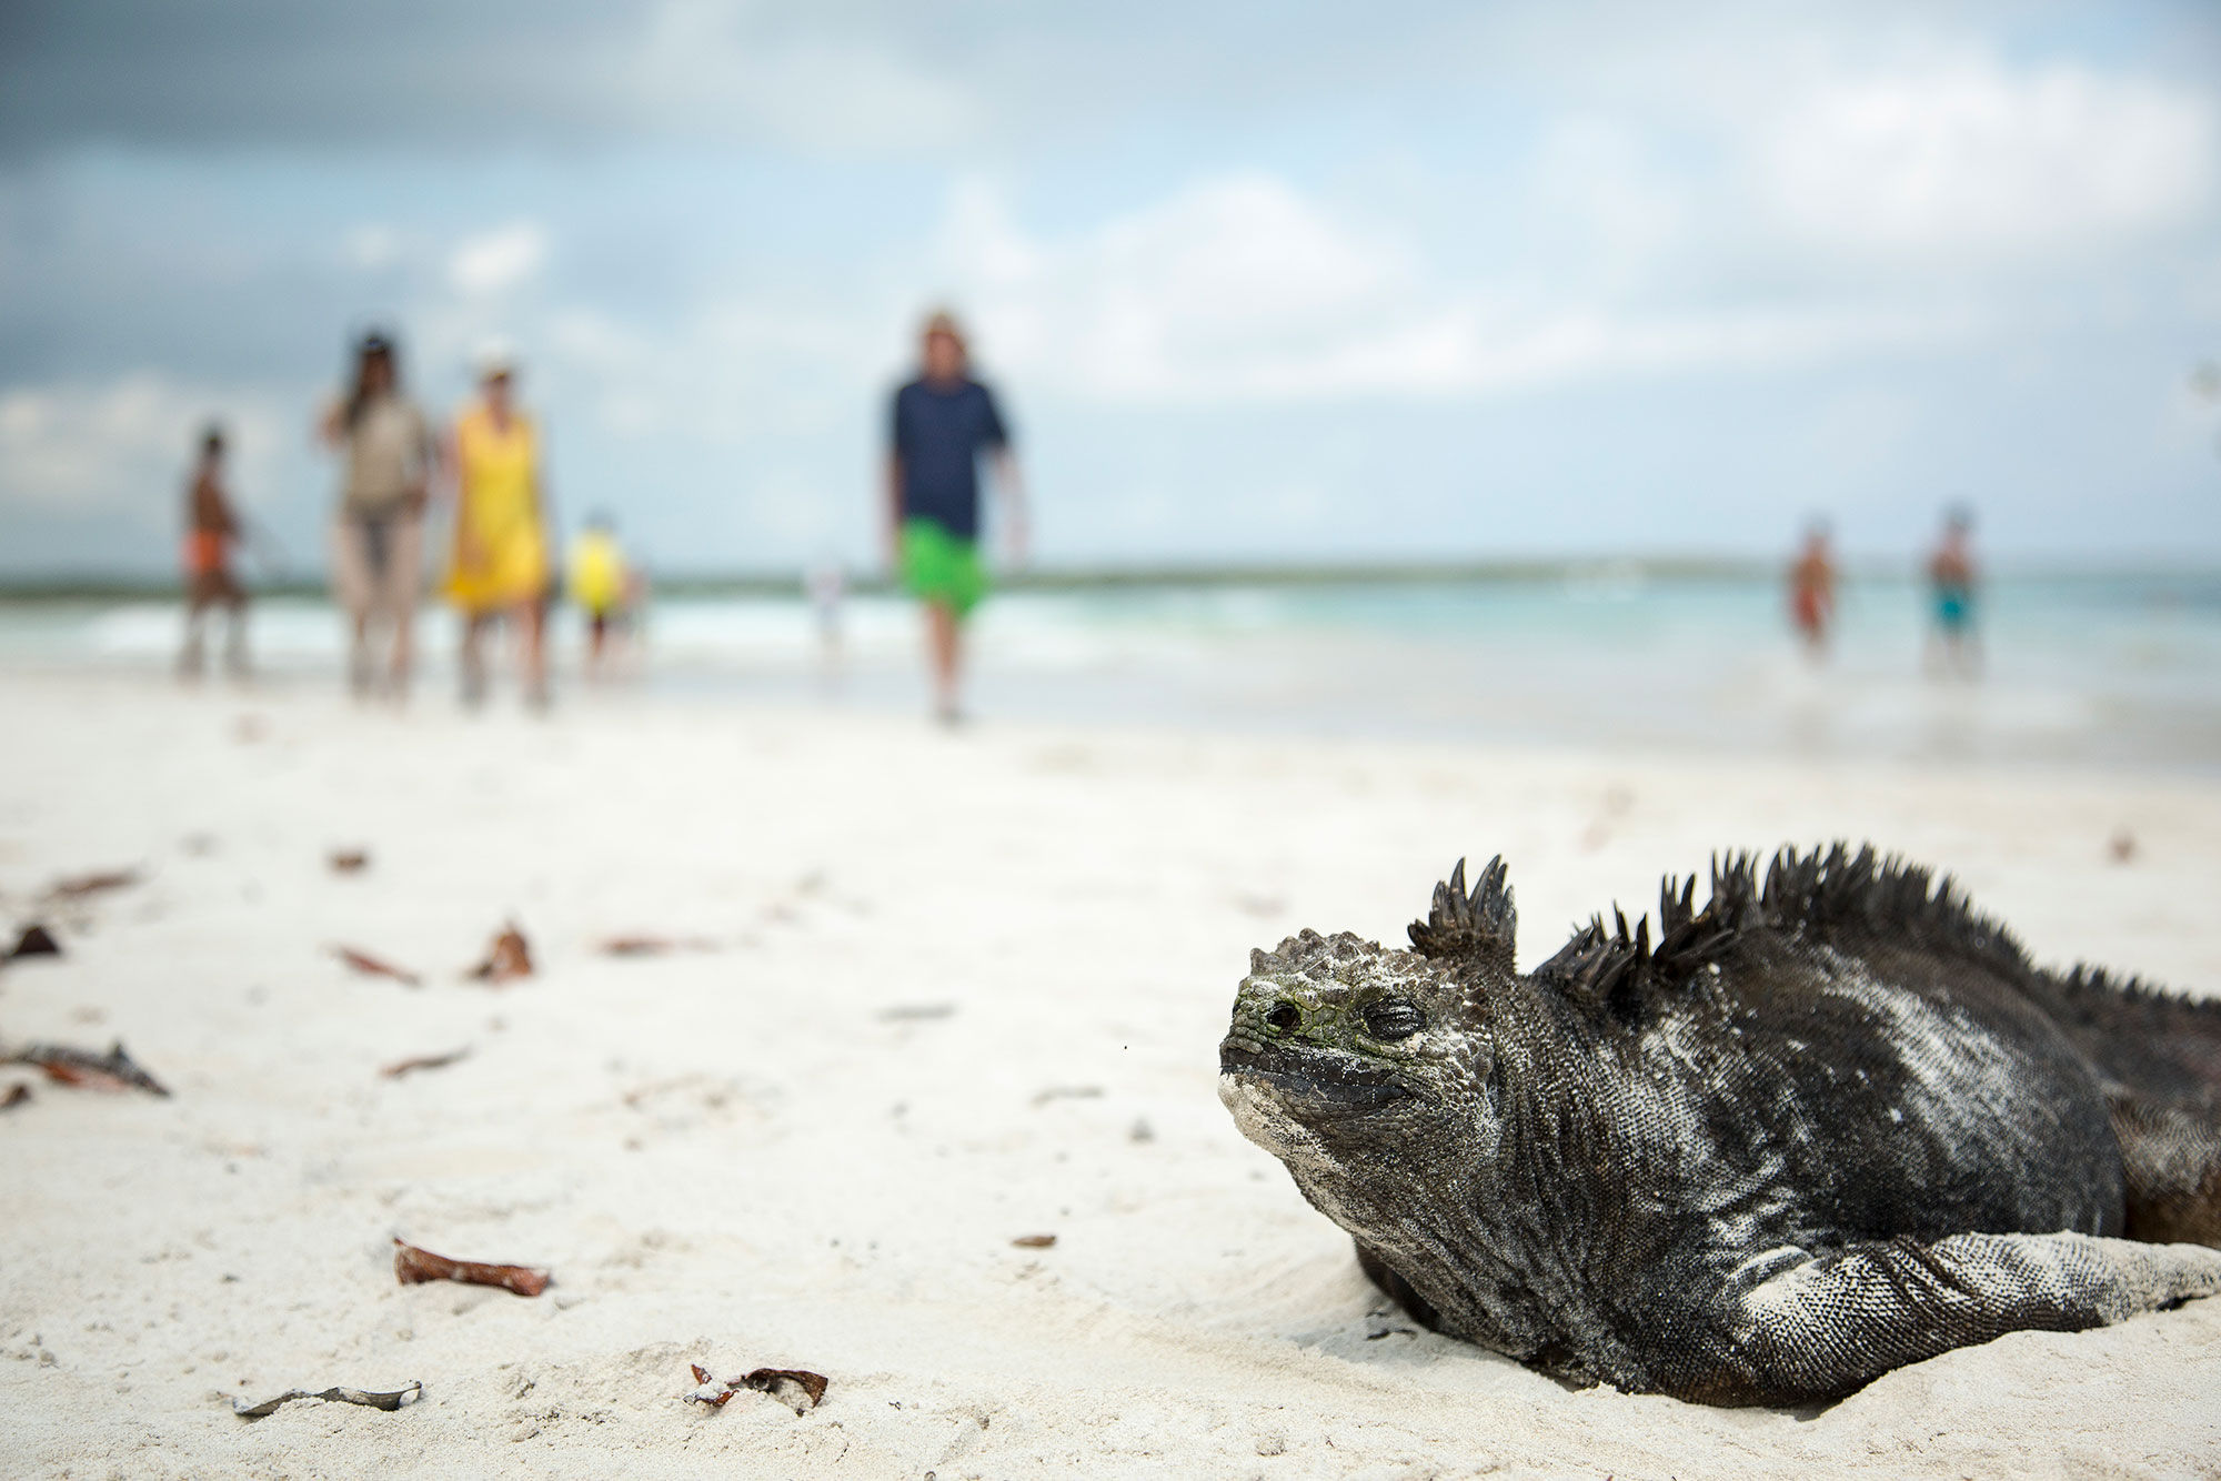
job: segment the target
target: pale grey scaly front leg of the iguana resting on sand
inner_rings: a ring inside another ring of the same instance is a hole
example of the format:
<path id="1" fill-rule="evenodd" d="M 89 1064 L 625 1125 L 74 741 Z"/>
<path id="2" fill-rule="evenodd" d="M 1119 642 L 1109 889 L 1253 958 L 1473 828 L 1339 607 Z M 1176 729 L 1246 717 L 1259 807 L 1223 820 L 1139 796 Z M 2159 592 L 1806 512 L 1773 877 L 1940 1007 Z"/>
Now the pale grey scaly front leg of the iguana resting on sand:
<path id="1" fill-rule="evenodd" d="M 2221 1250 L 2088 1235 L 1952 1235 L 1779 1257 L 1735 1301 L 1726 1343 L 1661 1388 L 1708 1403 L 1841 1399 L 1890 1368 L 2006 1332 L 2077 1332 L 2221 1292 Z"/>

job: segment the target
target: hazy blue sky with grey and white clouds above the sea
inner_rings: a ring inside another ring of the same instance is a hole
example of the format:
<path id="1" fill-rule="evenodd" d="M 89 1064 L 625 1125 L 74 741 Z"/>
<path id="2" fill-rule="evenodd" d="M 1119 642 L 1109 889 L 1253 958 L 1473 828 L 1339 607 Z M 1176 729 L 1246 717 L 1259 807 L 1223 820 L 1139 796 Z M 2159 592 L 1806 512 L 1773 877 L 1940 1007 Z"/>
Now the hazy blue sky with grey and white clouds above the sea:
<path id="1" fill-rule="evenodd" d="M 0 571 L 167 568 L 209 415 L 309 560 L 371 322 L 666 571 L 862 560 L 935 302 L 1057 564 L 2214 564 L 2221 13 L 0 9 Z"/>

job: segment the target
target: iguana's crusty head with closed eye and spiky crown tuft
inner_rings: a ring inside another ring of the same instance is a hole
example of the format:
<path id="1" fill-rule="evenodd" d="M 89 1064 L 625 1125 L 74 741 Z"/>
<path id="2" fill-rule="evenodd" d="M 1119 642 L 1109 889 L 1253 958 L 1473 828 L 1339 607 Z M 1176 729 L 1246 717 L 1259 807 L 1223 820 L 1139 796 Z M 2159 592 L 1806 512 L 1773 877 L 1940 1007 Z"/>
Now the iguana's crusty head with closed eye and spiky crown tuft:
<path id="1" fill-rule="evenodd" d="M 1493 1064 L 1488 984 L 1510 973 L 1501 886 L 1490 866 L 1468 899 L 1459 864 L 1413 928 L 1419 950 L 1304 930 L 1250 953 L 1219 1044 L 1219 1099 L 1315 1197 L 1310 1183 L 1337 1170 L 1493 1141 L 1477 1121 Z"/>

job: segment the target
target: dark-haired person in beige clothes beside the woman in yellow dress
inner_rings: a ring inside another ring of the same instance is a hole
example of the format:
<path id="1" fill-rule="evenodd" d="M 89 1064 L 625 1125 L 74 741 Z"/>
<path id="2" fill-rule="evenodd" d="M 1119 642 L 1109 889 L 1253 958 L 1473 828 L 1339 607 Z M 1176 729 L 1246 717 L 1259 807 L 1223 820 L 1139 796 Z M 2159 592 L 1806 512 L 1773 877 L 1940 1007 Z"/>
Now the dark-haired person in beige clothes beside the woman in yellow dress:
<path id="1" fill-rule="evenodd" d="M 402 395 L 393 340 L 355 342 L 355 380 L 324 411 L 324 444 L 340 455 L 340 515 L 331 526 L 331 586 L 349 617 L 346 682 L 358 699 L 378 693 L 371 653 L 378 624 L 391 626 L 384 693 L 409 697 L 415 608 L 424 573 L 424 500 L 438 449 L 431 424 Z"/>

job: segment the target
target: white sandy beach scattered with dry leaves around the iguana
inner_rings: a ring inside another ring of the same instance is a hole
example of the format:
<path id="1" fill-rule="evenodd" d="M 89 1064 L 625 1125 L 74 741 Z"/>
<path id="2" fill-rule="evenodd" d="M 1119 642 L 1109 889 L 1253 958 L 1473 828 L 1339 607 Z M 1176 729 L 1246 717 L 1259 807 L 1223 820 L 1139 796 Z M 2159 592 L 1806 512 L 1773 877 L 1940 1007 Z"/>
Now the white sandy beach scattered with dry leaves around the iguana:
<path id="1" fill-rule="evenodd" d="M 2221 1468 L 2221 1301 L 1952 1352 L 1817 1419 L 1410 1334 L 1213 1090 L 1250 946 L 1399 937 L 1459 853 L 1510 857 L 1521 961 L 1712 848 L 1866 835 L 2039 957 L 2214 988 L 2221 784 L 27 677 L 0 715 L 0 917 L 149 873 L 0 973 L 0 1035 L 122 1035 L 175 1090 L 38 1081 L 0 1112 L 4 1474 Z M 324 866 L 342 844 L 364 875 Z M 462 981 L 509 915 L 542 975 Z M 720 950 L 595 953 L 637 930 Z M 391 1235 L 557 1286 L 402 1288 Z M 713 1412 L 689 1361 L 833 1386 Z M 393 1414 L 222 1401 L 411 1379 Z"/>

